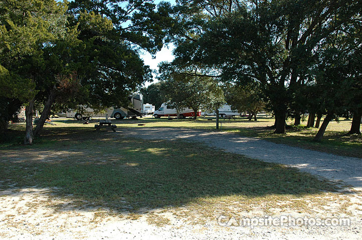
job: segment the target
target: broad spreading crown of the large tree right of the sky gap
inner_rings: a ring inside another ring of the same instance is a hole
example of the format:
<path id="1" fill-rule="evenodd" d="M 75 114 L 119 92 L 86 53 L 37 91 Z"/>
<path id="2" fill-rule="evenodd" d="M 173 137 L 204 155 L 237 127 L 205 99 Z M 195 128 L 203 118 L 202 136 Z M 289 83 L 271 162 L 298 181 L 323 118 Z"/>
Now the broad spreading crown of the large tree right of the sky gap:
<path id="1" fill-rule="evenodd" d="M 179 6 L 184 31 L 177 35 L 173 63 L 217 69 L 224 81 L 259 82 L 284 123 L 288 109 L 295 107 L 295 97 L 301 99 L 297 89 L 313 81 L 315 49 L 343 24 L 360 21 L 354 16 L 362 8 L 360 1 L 353 0 L 230 3 L 201 0 Z"/>

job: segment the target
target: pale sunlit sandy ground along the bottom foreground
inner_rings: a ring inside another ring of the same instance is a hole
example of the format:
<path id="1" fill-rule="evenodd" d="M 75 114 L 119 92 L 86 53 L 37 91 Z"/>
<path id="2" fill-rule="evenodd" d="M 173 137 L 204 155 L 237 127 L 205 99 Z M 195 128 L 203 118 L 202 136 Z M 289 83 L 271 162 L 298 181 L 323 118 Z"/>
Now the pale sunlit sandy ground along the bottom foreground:
<path id="1" fill-rule="evenodd" d="M 0 192 L 1 239 L 360 239 L 361 197 L 350 226 L 219 226 L 217 219 L 194 224 L 173 214 L 176 209 L 148 209 L 139 215 L 114 214 L 107 208 L 76 206 L 53 195 L 54 189 L 23 188 Z M 179 209 L 178 209 L 179 210 Z M 328 210 L 326 210 L 327 212 Z M 242 212 L 255 216 L 254 209 Z M 286 214 L 284 212 L 284 214 Z M 304 217 L 289 212 L 294 217 Z M 325 217 L 321 212 L 320 217 Z M 330 215 L 330 214 L 328 214 Z M 277 214 L 275 216 L 278 216 Z M 333 217 L 333 216 L 331 216 Z M 159 219 L 167 223 L 158 224 Z M 158 221 L 157 221 L 158 220 Z M 156 224 L 154 223 L 156 222 Z M 158 223 L 157 223 L 158 222 Z M 235 224 L 235 223 L 234 223 Z"/>

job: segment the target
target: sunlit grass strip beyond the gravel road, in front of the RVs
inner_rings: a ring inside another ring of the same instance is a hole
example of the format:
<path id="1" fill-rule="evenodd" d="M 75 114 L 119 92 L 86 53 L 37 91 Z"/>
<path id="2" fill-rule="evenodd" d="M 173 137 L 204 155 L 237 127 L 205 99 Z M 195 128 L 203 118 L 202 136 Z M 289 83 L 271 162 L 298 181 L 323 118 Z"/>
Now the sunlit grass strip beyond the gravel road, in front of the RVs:
<path id="1" fill-rule="evenodd" d="M 46 128 L 55 128 L 59 126 L 93 128 L 94 124 L 99 121 L 94 119 L 91 120 L 89 124 L 82 124 L 79 121 L 66 118 L 54 118 L 53 120 L 57 125 L 46 125 Z M 113 119 L 112 122 L 118 127 L 183 127 L 216 130 L 215 117 L 199 117 L 197 120 L 191 118 L 168 120 L 167 117 L 156 119 L 143 117 L 139 119 Z M 290 119 L 287 123 L 292 125 L 293 121 Z M 266 116 L 260 116 L 257 121 L 248 121 L 245 118 L 235 118 L 231 120 L 220 119 L 221 129 L 219 130 L 237 132 L 243 136 L 260 137 L 275 143 L 298 146 L 338 155 L 362 157 L 362 136 L 347 134 L 351 125 L 351 120 L 349 119 L 341 118 L 338 122 L 329 122 L 321 142 L 313 141 L 313 138 L 318 131 L 317 128 L 306 128 L 303 126 L 306 125 L 306 119 L 302 121 L 301 126 L 288 128 L 286 134 L 273 134 L 274 129 L 271 127 L 273 124 L 274 118 Z M 14 124 L 12 129 L 24 129 L 24 124 Z M 9 136 L 7 141 L 0 142 L 0 146 L 22 142 L 23 133 L 19 134 L 16 139 L 14 138 L 14 135 L 16 134 L 12 133 L 12 136 Z"/>

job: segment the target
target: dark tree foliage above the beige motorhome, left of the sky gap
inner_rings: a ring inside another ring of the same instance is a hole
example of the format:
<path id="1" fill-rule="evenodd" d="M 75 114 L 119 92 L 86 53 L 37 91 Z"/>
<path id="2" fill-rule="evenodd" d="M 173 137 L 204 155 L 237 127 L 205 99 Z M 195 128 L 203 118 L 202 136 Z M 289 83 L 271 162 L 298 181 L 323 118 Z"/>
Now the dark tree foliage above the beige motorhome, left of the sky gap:
<path id="1" fill-rule="evenodd" d="M 162 47 L 169 5 L 152 1 L 75 0 L 69 4 L 70 25 L 79 30 L 78 60 L 88 87 L 82 102 L 95 109 L 127 104 L 127 96 L 152 78 L 138 50 Z"/>

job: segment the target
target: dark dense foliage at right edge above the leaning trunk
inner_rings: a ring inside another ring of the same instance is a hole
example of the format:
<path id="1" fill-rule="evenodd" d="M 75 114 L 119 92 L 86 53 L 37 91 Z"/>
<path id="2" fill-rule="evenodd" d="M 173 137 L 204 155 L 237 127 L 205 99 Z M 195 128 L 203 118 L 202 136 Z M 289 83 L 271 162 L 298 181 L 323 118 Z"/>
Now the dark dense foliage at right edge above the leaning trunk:
<path id="1" fill-rule="evenodd" d="M 309 88 L 317 93 L 312 107 L 334 112 L 336 117 L 362 107 L 362 22 L 358 15 L 352 19 L 318 45 L 318 61 L 311 68 L 314 81 Z"/>

